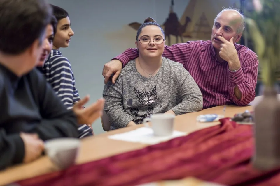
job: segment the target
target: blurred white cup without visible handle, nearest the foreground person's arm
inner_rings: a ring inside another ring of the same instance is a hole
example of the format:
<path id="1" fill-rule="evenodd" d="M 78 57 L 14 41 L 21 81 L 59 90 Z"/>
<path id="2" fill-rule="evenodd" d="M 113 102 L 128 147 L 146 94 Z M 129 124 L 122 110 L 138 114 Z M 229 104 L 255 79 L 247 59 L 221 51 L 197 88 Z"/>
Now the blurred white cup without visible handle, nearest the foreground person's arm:
<path id="1" fill-rule="evenodd" d="M 45 142 L 45 153 L 58 167 L 66 169 L 75 164 L 80 146 L 78 138 L 56 138 Z"/>

